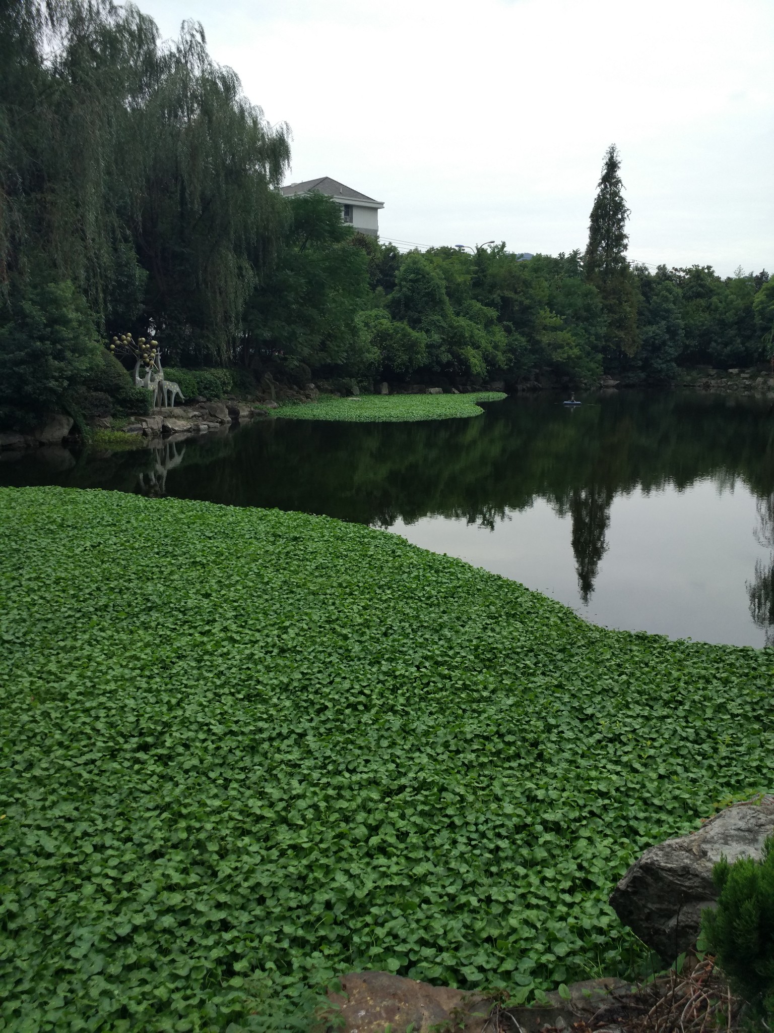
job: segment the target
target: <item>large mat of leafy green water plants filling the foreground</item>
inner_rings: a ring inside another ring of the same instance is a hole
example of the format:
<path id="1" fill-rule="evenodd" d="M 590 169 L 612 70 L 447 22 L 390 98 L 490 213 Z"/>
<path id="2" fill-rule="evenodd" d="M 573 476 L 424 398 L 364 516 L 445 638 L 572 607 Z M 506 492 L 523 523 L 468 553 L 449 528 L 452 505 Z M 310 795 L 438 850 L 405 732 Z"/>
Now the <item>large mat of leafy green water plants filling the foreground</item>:
<path id="1" fill-rule="evenodd" d="M 593 627 L 326 518 L 43 488 L 0 522 L 8 1029 L 248 1028 L 353 968 L 623 971 L 635 855 L 774 784 L 772 651 Z"/>

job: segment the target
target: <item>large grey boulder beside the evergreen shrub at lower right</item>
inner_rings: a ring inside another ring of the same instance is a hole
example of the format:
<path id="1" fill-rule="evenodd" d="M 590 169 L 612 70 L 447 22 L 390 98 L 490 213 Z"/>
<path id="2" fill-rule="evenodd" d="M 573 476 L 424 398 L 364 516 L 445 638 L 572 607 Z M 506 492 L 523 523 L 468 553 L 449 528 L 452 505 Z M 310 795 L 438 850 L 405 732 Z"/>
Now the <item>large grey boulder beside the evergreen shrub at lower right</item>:
<path id="1" fill-rule="evenodd" d="M 769 836 L 774 836 L 774 795 L 735 804 L 698 832 L 646 850 L 615 887 L 610 904 L 643 943 L 672 962 L 696 942 L 702 911 L 715 906 L 713 867 L 721 857 L 730 864 L 739 857 L 760 859 Z"/>

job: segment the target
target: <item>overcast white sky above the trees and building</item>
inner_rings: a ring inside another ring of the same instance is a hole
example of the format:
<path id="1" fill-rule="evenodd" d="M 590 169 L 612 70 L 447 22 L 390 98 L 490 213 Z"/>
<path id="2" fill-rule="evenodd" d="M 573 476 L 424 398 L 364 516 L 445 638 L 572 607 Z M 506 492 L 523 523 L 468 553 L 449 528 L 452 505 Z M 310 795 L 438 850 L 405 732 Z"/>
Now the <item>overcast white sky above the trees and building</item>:
<path id="1" fill-rule="evenodd" d="M 630 256 L 774 272 L 771 0 L 139 0 L 200 21 L 288 182 L 385 202 L 384 240 L 583 248 L 618 145 Z"/>

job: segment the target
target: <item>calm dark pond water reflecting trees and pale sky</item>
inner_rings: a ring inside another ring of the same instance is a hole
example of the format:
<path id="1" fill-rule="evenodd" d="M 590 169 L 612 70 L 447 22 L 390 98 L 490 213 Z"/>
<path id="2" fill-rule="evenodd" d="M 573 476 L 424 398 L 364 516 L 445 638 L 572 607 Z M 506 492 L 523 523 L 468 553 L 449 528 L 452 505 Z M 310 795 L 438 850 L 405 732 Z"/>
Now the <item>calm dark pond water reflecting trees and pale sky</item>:
<path id="1" fill-rule="evenodd" d="M 3 452 L 0 483 L 370 524 L 608 627 L 774 645 L 774 410 L 678 394 L 490 403 L 426 424 L 271 420 L 138 452 Z"/>

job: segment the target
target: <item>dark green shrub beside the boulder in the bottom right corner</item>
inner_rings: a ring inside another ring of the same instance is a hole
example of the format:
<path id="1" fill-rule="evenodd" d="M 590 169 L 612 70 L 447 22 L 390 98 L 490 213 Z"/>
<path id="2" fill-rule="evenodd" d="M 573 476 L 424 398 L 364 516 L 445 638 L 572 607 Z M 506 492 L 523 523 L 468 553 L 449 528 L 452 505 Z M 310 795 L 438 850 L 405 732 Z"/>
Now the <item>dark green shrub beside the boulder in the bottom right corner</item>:
<path id="1" fill-rule="evenodd" d="M 774 838 L 762 860 L 722 859 L 712 872 L 720 891 L 703 933 L 734 991 L 774 1019 Z"/>

